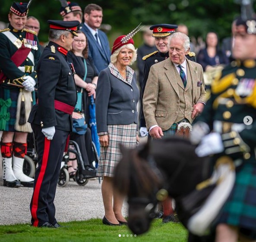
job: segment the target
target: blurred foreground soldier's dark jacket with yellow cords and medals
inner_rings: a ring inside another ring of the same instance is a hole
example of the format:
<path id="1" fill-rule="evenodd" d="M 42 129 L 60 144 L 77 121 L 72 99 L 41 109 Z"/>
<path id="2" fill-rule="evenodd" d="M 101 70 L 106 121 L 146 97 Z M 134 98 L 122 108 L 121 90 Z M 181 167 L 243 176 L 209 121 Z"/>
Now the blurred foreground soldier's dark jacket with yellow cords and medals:
<path id="1" fill-rule="evenodd" d="M 211 97 L 197 118 L 222 136 L 224 152 L 256 164 L 256 61 L 231 62 L 212 83 Z M 249 122 L 246 116 L 252 118 Z M 234 155 L 233 155 L 234 154 Z"/>

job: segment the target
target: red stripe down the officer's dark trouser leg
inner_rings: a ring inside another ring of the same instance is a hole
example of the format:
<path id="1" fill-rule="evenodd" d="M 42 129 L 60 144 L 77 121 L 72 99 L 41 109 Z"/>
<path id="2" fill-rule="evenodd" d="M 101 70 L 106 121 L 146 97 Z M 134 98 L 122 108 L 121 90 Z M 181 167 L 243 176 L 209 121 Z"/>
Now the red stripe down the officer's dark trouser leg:
<path id="1" fill-rule="evenodd" d="M 48 162 L 48 156 L 49 156 L 49 151 L 50 151 L 50 143 L 51 140 L 47 140 L 47 138 L 44 138 L 44 153 L 43 153 L 43 160 L 42 160 L 42 166 L 41 170 L 38 175 L 38 180 L 35 184 L 35 190 L 34 190 L 34 195 L 32 199 L 32 208 L 31 208 L 31 215 L 32 218 L 34 219 L 33 226 L 37 227 L 38 226 L 38 217 L 36 215 L 37 209 L 38 209 L 38 197 L 39 197 L 39 192 L 41 189 L 41 185 L 44 179 L 44 174 L 45 170 L 47 167 L 47 162 Z"/>

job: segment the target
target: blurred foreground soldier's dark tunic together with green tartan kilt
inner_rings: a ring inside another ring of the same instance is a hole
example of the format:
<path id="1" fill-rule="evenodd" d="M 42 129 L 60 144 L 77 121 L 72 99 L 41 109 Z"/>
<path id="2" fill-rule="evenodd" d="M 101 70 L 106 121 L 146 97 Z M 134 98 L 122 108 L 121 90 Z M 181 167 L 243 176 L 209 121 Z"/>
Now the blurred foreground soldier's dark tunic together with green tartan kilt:
<path id="1" fill-rule="evenodd" d="M 255 81 L 255 60 L 232 62 L 213 82 L 211 97 L 197 121 L 209 124 L 211 130 L 222 134 L 224 153 L 221 156 L 228 155 L 242 162 L 218 223 L 256 232 Z M 252 118 L 251 124 L 244 123 L 246 116 Z"/>

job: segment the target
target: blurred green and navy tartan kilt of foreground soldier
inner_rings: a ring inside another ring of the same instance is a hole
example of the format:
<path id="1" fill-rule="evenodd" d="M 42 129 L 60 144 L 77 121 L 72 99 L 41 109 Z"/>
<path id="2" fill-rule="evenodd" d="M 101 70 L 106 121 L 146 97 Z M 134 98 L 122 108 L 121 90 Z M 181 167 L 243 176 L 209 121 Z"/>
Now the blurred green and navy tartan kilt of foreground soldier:
<path id="1" fill-rule="evenodd" d="M 256 233 L 256 164 L 244 162 L 236 173 L 234 188 L 218 223 L 227 223 Z"/>

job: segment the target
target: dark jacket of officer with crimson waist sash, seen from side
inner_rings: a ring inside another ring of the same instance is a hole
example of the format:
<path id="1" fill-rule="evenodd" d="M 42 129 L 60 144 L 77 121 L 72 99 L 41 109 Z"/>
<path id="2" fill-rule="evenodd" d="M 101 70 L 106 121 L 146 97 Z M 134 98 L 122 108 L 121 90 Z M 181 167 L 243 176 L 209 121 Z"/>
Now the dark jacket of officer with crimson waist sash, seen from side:
<path id="1" fill-rule="evenodd" d="M 42 128 L 55 126 L 72 131 L 71 115 L 54 109 L 54 100 L 75 107 L 77 99 L 73 71 L 59 48 L 63 49 L 50 41 L 38 62 L 38 104 L 33 106 L 28 121 Z"/>

